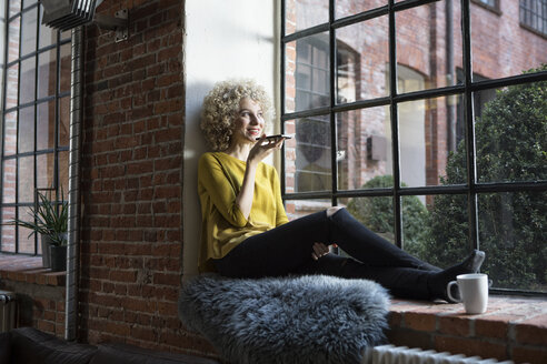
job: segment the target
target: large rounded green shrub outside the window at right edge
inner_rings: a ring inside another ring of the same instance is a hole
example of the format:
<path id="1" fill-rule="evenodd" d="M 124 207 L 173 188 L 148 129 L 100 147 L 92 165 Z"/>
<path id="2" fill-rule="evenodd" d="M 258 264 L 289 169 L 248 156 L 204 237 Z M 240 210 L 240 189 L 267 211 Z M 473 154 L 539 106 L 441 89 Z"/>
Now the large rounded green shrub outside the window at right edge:
<path id="1" fill-rule="evenodd" d="M 540 70 L 547 70 L 547 65 Z M 547 82 L 508 87 L 488 102 L 475 127 L 479 182 L 547 179 Z M 465 141 L 448 158 L 442 184 L 466 179 Z M 496 286 L 539 289 L 547 282 L 545 192 L 478 195 L 484 272 Z M 430 215 L 426 260 L 446 266 L 469 251 L 467 196 L 439 195 Z"/>

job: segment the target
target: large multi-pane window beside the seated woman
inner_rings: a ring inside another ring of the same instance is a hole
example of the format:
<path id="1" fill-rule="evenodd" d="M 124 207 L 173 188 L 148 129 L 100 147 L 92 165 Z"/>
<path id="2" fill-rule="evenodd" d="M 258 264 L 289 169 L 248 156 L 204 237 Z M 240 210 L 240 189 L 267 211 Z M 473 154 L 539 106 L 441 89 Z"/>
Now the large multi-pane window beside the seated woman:
<path id="1" fill-rule="evenodd" d="M 434 264 L 478 247 L 496 290 L 547 294 L 547 40 L 519 3 L 282 10 L 289 216 L 345 205 Z"/>

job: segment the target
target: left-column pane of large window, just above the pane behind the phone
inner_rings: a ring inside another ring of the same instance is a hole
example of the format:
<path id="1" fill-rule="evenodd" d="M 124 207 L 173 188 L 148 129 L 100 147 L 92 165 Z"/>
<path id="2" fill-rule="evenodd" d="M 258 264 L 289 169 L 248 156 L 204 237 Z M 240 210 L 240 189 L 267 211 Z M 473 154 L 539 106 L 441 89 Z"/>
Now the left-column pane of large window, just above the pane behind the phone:
<path id="1" fill-rule="evenodd" d="M 286 57 L 286 112 L 328 107 L 328 34 L 315 34 L 288 43 Z"/>

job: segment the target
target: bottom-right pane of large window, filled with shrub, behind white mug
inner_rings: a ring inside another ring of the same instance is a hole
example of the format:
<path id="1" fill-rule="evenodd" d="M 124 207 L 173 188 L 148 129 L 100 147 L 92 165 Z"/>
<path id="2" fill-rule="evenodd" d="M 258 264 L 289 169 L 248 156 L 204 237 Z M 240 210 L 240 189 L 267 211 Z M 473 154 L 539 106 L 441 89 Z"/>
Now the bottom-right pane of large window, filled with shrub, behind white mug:
<path id="1" fill-rule="evenodd" d="M 478 209 L 494 286 L 547 292 L 547 193 L 480 194 Z"/>

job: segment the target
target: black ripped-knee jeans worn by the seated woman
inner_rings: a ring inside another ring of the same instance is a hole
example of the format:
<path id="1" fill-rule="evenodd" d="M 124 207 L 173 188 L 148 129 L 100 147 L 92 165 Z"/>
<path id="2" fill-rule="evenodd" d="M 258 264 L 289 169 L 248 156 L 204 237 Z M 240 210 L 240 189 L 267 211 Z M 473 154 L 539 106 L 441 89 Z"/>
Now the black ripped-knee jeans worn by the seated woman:
<path id="1" fill-rule="evenodd" d="M 316 242 L 336 243 L 352 259 L 327 254 L 315 261 Z M 330 216 L 317 212 L 248 237 L 216 260 L 215 266 L 229 277 L 327 274 L 368 279 L 396 296 L 420 300 L 431 299 L 427 282 L 440 271 L 375 234 L 346 209 Z"/>

